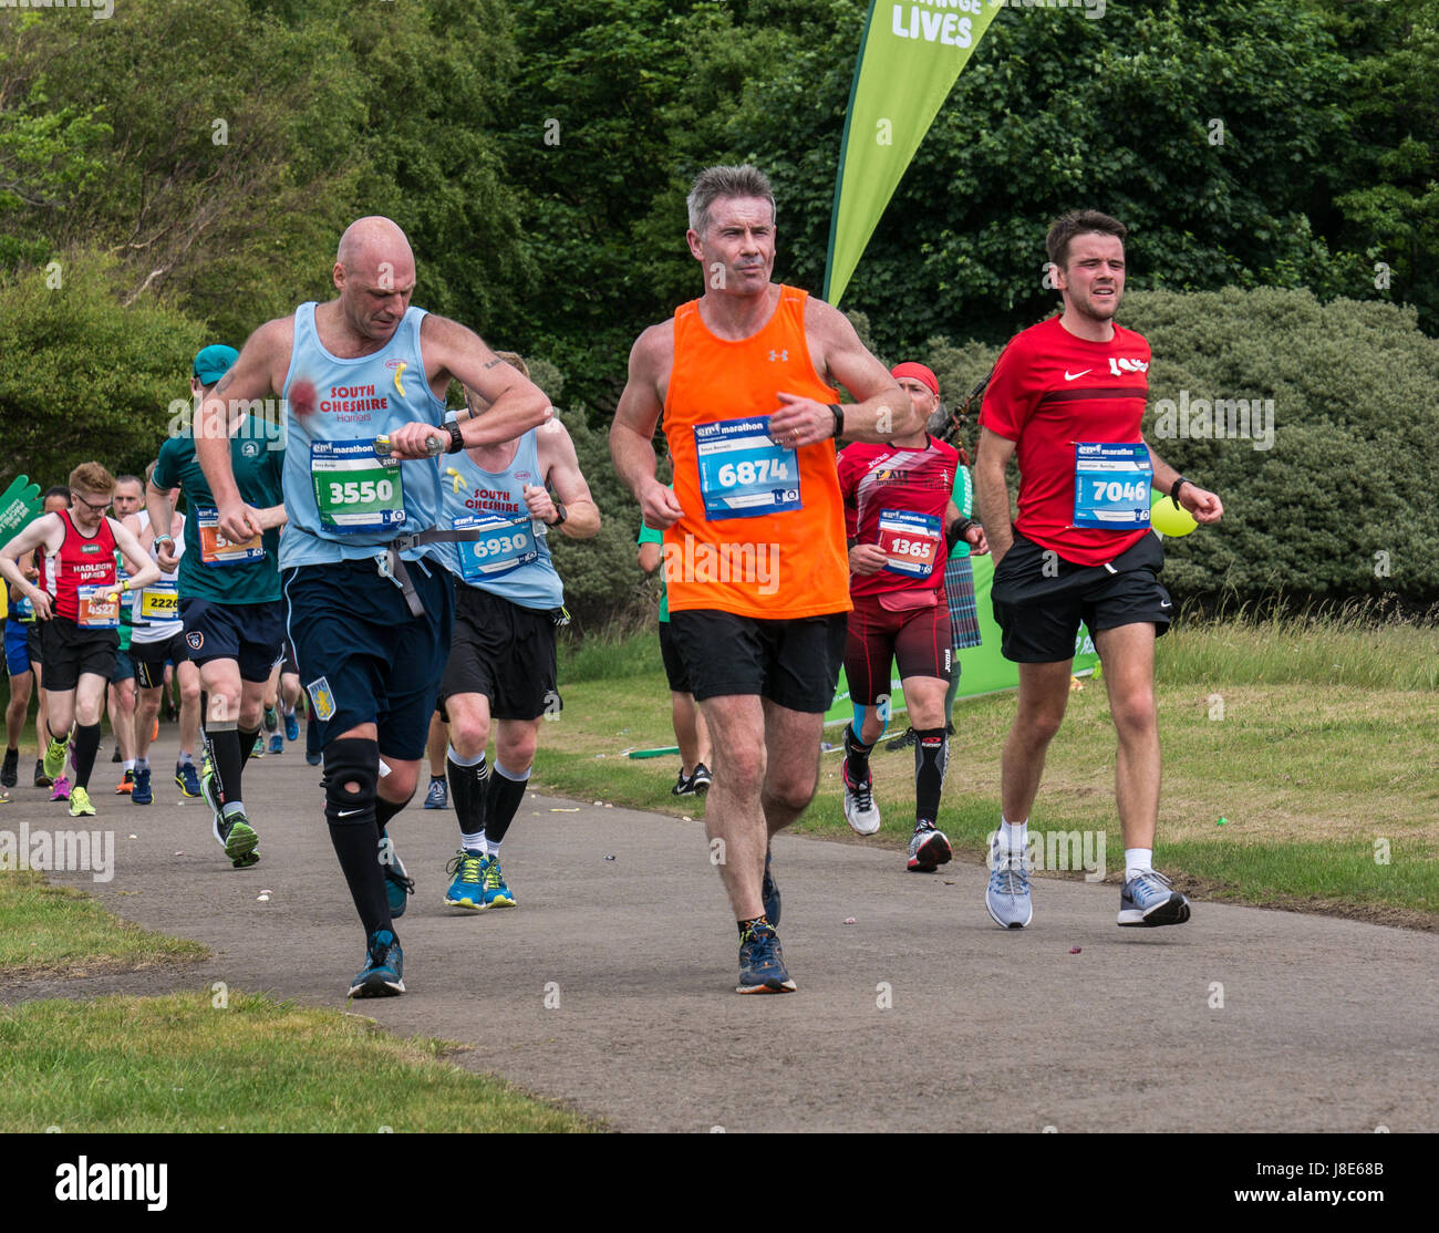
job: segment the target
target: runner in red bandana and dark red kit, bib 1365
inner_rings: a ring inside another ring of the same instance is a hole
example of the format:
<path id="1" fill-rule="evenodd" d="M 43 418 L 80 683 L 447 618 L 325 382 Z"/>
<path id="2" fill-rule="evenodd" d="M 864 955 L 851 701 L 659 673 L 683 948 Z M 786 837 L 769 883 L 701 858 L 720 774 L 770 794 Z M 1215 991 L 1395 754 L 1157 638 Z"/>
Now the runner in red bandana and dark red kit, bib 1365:
<path id="1" fill-rule="evenodd" d="M 940 383 L 924 364 L 899 364 L 889 376 L 921 416 L 931 410 Z M 932 873 L 951 856 L 950 840 L 935 827 L 950 763 L 944 696 L 953 639 L 944 563 L 961 537 L 976 551 L 987 551 L 984 531 L 950 499 L 958 465 L 958 450 L 922 427 L 884 445 L 846 446 L 839 456 L 855 606 L 845 643 L 845 679 L 855 708 L 845 728 L 845 819 L 861 834 L 879 830 L 869 752 L 889 721 L 894 660 L 915 734 L 911 873 Z"/>

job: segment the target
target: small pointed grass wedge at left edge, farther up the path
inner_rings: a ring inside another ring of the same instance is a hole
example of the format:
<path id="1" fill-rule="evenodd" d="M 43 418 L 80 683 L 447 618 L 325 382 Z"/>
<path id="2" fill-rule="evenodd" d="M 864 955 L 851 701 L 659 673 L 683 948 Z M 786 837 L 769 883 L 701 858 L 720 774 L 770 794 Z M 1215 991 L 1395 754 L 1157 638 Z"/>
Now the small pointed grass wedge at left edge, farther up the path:
<path id="1" fill-rule="evenodd" d="M 95 899 L 68 886 L 50 886 L 33 870 L 0 872 L 3 975 L 94 975 L 207 954 L 199 942 L 119 921 Z"/>

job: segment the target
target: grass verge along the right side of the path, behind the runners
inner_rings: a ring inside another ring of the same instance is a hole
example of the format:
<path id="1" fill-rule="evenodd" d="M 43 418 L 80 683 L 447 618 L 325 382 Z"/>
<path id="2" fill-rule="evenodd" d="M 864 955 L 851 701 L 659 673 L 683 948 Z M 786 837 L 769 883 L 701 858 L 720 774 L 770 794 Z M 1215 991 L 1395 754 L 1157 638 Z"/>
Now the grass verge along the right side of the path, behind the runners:
<path id="1" fill-rule="evenodd" d="M 1163 869 L 1197 879 L 1212 898 L 1322 901 L 1439 924 L 1439 752 L 1432 740 L 1439 630 L 1295 617 L 1190 624 L 1158 646 Z M 636 658 L 645 666 L 629 676 L 581 681 L 561 668 L 566 709 L 541 731 L 534 786 L 699 814 L 699 801 L 669 796 L 676 757 L 619 757 L 626 748 L 673 744 L 653 634 L 627 640 L 614 660 Z M 940 824 L 960 859 L 981 859 L 999 817 L 1000 750 L 1013 715 L 1013 693 L 955 706 L 958 735 Z M 901 718 L 891 735 L 902 725 Z M 837 729 L 826 738 L 837 741 Z M 1104 682 L 1091 681 L 1071 693 L 1030 824 L 1102 830 L 1112 873 L 1122 866 L 1114 763 Z M 889 754 L 881 744 L 872 765 L 886 819 L 878 836 L 859 840 L 843 820 L 837 752 L 822 757 L 819 793 L 794 830 L 902 849 L 914 809 L 912 750 Z M 1387 865 L 1376 862 L 1380 839 Z"/>

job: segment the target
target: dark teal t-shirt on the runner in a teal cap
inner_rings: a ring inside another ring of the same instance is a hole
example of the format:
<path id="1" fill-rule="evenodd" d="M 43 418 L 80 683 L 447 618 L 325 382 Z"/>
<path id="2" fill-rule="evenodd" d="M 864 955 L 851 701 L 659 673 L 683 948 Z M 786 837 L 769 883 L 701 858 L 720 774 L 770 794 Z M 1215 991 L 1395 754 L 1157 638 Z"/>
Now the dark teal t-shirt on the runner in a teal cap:
<path id="1" fill-rule="evenodd" d="M 256 509 L 281 505 L 283 493 L 285 449 L 266 433 L 268 426 L 253 417 L 230 437 L 230 466 L 240 499 Z M 279 599 L 279 528 L 260 537 L 262 557 L 226 564 L 206 564 L 201 545 L 213 542 L 214 498 L 200 460 L 194 456 L 190 433 L 170 437 L 160 446 L 160 462 L 151 482 L 155 488 L 177 488 L 184 493 L 184 542 L 180 558 L 180 594 L 220 604 L 263 604 Z M 232 552 L 226 545 L 220 554 Z"/>

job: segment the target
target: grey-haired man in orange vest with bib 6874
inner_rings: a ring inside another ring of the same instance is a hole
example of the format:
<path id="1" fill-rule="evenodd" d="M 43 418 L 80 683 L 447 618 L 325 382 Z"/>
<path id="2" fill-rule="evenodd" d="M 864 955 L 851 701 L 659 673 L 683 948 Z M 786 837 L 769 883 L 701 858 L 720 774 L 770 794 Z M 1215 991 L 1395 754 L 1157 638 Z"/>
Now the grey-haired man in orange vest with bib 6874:
<path id="1" fill-rule="evenodd" d="M 688 206 L 705 294 L 635 342 L 610 455 L 645 522 L 665 532 L 671 632 L 714 745 L 705 827 L 740 927 L 737 991 L 787 993 L 768 840 L 814 796 L 845 655 L 835 440 L 924 424 L 837 309 L 770 281 L 763 173 L 711 167 Z M 840 406 L 837 384 L 861 401 Z M 655 478 L 661 422 L 673 491 Z"/>

